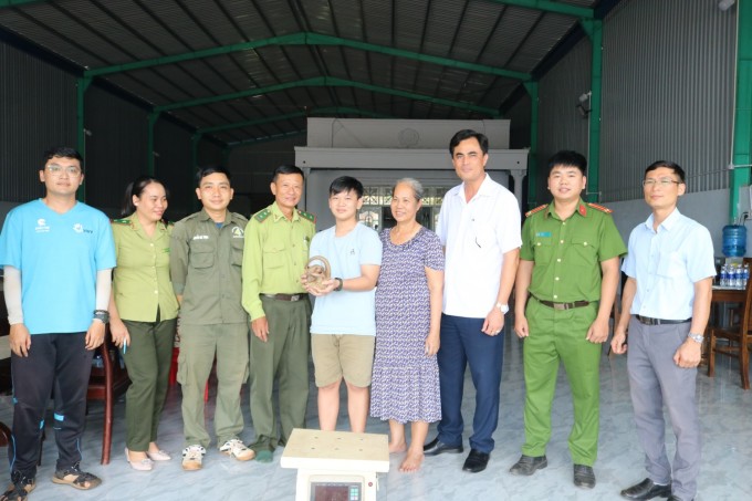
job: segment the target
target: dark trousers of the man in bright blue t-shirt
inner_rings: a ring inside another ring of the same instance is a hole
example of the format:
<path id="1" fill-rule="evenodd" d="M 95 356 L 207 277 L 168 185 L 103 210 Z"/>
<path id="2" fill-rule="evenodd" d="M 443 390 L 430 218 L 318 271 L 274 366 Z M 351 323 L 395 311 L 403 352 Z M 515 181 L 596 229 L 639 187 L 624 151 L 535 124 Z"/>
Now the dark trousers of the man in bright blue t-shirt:
<path id="1" fill-rule="evenodd" d="M 36 476 L 44 414 L 54 388 L 56 469 L 81 461 L 80 440 L 86 419 L 86 389 L 93 351 L 86 333 L 35 334 L 28 357 L 11 354 L 13 377 L 13 439 L 8 447 L 10 471 Z"/>

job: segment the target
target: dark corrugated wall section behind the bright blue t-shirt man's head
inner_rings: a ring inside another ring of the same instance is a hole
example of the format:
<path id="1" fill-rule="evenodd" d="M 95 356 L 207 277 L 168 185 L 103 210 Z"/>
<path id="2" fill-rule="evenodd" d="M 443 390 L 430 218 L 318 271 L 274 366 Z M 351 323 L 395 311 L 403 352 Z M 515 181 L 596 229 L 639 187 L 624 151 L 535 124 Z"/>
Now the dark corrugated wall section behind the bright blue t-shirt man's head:
<path id="1" fill-rule="evenodd" d="M 43 195 L 43 152 L 75 146 L 75 94 L 73 76 L 0 42 L 0 200 Z"/>

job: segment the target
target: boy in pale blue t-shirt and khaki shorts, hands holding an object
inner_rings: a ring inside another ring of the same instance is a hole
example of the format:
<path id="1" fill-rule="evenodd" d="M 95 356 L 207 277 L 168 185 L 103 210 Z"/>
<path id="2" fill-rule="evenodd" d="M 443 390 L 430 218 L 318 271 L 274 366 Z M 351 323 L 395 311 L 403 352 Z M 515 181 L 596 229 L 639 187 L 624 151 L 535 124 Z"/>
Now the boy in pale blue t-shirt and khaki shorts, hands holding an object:
<path id="1" fill-rule="evenodd" d="M 375 292 L 382 267 L 378 234 L 358 223 L 363 185 L 343 176 L 330 186 L 335 225 L 311 241 L 310 255 L 330 262 L 332 278 L 321 288 L 303 282 L 316 296 L 311 316 L 311 352 L 318 387 L 318 425 L 334 430 L 340 414 L 340 385 L 347 385 L 352 431 L 363 432 L 368 417 L 368 386 L 376 336 Z"/>

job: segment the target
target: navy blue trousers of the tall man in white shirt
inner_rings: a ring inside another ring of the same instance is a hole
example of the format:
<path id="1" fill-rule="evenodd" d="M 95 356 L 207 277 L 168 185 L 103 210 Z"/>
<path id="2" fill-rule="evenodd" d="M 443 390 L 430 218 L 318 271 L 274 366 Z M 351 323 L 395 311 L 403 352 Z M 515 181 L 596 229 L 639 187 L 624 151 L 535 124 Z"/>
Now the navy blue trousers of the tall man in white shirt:
<path id="1" fill-rule="evenodd" d="M 464 368 L 469 364 L 476 386 L 470 447 L 488 453 L 493 450 L 492 435 L 499 424 L 504 336 L 483 334 L 483 321 L 441 314 L 441 347 L 438 353 L 441 421 L 438 430 L 440 441 L 450 446 L 462 443 L 462 389 Z"/>

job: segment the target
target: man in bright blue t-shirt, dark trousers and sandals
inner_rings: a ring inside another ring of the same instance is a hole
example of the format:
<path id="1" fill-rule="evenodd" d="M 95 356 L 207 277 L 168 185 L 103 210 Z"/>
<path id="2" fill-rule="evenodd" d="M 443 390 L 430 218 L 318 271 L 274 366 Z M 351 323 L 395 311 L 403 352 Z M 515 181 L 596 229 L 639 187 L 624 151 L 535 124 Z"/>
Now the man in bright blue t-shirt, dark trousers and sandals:
<path id="1" fill-rule="evenodd" d="M 12 483 L 3 500 L 24 500 L 35 487 L 53 386 L 59 457 L 52 481 L 83 490 L 102 483 L 81 471 L 80 443 L 92 356 L 104 342 L 115 246 L 107 217 L 76 201 L 81 155 L 59 147 L 44 160 L 44 198 L 11 210 L 0 233 L 14 403 Z"/>

